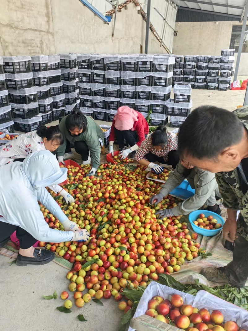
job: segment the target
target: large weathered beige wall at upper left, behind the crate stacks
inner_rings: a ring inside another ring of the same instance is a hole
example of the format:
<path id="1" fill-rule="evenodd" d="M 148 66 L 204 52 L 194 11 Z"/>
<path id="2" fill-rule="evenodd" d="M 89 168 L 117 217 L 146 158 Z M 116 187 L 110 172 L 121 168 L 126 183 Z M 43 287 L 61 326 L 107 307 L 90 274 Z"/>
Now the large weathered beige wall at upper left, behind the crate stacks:
<path id="1" fill-rule="evenodd" d="M 131 3 L 104 24 L 79 0 L 1 0 L 0 56 L 55 53 L 140 53 L 145 21 Z M 150 31 L 149 53 L 166 53 Z"/>

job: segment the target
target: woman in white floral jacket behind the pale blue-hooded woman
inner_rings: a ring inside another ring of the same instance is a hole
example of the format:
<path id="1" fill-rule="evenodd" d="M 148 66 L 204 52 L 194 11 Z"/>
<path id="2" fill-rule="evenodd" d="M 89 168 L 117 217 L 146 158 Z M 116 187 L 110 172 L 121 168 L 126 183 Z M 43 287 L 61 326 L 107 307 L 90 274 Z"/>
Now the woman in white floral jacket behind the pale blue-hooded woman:
<path id="1" fill-rule="evenodd" d="M 59 125 L 46 127 L 40 126 L 37 131 L 20 134 L 10 143 L 0 148 L 0 166 L 15 161 L 23 161 L 29 154 L 35 151 L 48 150 L 55 152 L 63 144 L 64 138 L 59 130 Z M 55 193 L 60 194 L 66 203 L 75 202 L 74 198 L 59 185 L 49 187 Z"/>

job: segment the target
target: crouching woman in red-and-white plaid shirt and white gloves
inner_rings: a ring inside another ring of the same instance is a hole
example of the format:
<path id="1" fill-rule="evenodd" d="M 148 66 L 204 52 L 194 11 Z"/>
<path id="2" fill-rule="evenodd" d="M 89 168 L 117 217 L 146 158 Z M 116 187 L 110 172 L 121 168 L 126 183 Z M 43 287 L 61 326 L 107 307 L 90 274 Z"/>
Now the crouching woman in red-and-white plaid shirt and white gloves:
<path id="1" fill-rule="evenodd" d="M 155 172 L 160 173 L 163 168 L 154 164 L 159 162 L 171 165 L 175 169 L 179 162 L 177 155 L 178 139 L 175 133 L 167 131 L 165 126 L 158 126 L 142 143 L 135 154 L 135 160 Z"/>

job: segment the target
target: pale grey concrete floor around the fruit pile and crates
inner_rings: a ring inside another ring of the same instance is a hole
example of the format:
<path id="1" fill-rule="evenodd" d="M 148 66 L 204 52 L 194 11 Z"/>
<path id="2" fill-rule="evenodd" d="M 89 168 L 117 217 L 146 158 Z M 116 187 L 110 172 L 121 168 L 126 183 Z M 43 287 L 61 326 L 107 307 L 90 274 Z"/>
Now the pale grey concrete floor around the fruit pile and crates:
<path id="1" fill-rule="evenodd" d="M 243 104 L 244 95 L 245 91 L 192 90 L 191 99 L 193 109 L 207 104 L 232 111 Z M 123 313 L 112 298 L 102 300 L 104 307 L 92 302 L 83 308 L 73 306 L 70 314 L 56 310 L 56 307 L 63 305 L 60 294 L 67 291 L 69 284 L 65 278 L 67 270 L 62 266 L 50 262 L 43 266 L 18 267 L 10 265 L 9 261 L 9 258 L 0 255 L 0 318 L 3 331 L 98 331 L 100 326 L 103 331 L 119 329 Z M 58 293 L 57 300 L 42 299 L 42 295 L 51 295 L 54 291 Z M 72 302 L 74 304 L 74 300 Z M 88 321 L 80 322 L 78 314 L 83 314 Z"/>

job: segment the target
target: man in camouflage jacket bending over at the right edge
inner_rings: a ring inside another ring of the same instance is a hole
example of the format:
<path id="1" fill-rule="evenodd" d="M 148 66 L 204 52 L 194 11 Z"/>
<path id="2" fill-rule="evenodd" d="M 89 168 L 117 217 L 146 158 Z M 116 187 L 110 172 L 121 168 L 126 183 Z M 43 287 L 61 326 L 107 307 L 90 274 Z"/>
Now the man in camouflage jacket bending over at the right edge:
<path id="1" fill-rule="evenodd" d="M 178 146 L 181 159 L 216 174 L 228 215 L 223 236 L 235 240 L 230 263 L 201 273 L 213 282 L 244 286 L 248 277 L 248 106 L 234 112 L 198 107 L 181 126 Z"/>

